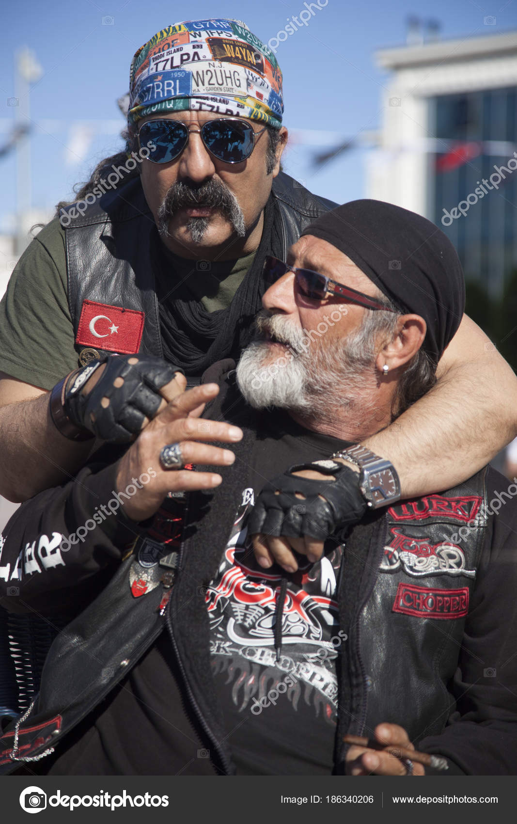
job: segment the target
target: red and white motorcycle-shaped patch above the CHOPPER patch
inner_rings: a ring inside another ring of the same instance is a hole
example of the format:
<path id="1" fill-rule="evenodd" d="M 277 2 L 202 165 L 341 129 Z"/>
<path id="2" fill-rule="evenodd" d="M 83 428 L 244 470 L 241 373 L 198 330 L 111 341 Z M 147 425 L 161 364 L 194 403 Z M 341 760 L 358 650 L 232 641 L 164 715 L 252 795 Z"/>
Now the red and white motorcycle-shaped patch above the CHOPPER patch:
<path id="1" fill-rule="evenodd" d="M 381 572 L 396 572 L 402 567 L 405 573 L 416 578 L 440 574 L 476 577 L 475 569 L 465 569 L 465 553 L 459 546 L 447 541 L 430 544 L 429 538 L 404 535 L 398 527 L 389 531 L 393 540 L 388 546 L 384 546 L 384 556 L 379 567 Z"/>

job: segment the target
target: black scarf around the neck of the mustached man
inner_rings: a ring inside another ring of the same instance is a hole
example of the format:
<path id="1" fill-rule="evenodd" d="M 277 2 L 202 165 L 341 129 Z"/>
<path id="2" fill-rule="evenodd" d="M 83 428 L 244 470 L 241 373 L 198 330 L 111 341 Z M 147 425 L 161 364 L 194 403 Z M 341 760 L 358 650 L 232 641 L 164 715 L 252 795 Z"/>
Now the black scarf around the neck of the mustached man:
<path id="1" fill-rule="evenodd" d="M 185 289 L 174 288 L 174 273 L 161 251 L 161 241 L 156 237 L 152 265 L 164 357 L 184 368 L 186 375 L 202 375 L 212 363 L 223 358 L 238 360 L 240 350 L 249 343 L 254 316 L 262 306 L 261 298 L 265 292 L 264 257 L 283 254 L 279 232 L 281 218 L 276 211 L 270 196 L 264 208 L 262 238 L 254 262 L 227 309 L 209 312 Z"/>

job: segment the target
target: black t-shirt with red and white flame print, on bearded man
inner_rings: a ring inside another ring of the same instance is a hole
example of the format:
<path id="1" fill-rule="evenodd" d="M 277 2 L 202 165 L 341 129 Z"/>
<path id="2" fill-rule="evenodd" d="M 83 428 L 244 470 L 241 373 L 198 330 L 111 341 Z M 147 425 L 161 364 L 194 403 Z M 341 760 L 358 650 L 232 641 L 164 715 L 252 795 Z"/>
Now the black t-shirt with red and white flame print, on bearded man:
<path id="1" fill-rule="evenodd" d="M 316 564 L 299 555 L 295 574 L 277 564 L 262 569 L 246 523 L 266 480 L 293 464 L 328 458 L 344 442 L 310 433 L 286 414 L 267 420 L 274 434 L 255 444 L 249 486 L 217 576 L 207 588 L 212 672 L 240 775 L 330 775 L 338 702 L 335 660 L 346 642 L 336 601 L 342 546 L 328 541 Z M 286 597 L 277 651 L 282 578 Z"/>

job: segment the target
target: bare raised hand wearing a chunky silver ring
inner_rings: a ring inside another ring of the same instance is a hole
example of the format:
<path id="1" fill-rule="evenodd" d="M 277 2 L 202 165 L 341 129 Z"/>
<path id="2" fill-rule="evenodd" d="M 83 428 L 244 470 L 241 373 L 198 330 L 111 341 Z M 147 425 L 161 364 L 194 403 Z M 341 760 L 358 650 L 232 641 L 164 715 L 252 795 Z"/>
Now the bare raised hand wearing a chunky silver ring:
<path id="1" fill-rule="evenodd" d="M 178 381 L 185 385 L 183 376 Z M 154 515 L 168 492 L 213 489 L 221 483 L 221 475 L 212 472 L 164 470 L 160 464 L 161 448 L 168 443 L 179 443 L 185 464 L 230 466 L 235 461 L 233 452 L 212 447 L 209 442 L 235 443 L 242 438 L 242 430 L 221 421 L 199 419 L 204 405 L 218 392 L 217 383 L 182 392 L 156 414 L 119 461 L 117 492 L 134 486 L 139 475 L 151 475 L 151 480 L 123 503 L 124 513 L 133 521 L 145 521 Z"/>

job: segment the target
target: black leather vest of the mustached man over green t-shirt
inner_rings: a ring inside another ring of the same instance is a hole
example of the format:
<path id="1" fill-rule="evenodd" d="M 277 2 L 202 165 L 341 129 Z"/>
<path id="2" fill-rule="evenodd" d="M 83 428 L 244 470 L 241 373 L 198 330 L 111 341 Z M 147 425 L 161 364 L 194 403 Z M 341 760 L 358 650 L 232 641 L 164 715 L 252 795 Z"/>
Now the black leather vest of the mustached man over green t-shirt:
<path id="1" fill-rule="evenodd" d="M 272 198 L 280 214 L 283 257 L 300 232 L 314 218 L 337 204 L 317 198 L 296 180 L 281 172 L 272 183 Z M 72 214 L 76 217 L 72 218 Z M 145 313 L 142 341 L 137 350 L 162 356 L 160 321 L 151 242 L 155 221 L 147 206 L 140 178 L 129 180 L 117 193 L 105 194 L 77 217 L 75 204 L 63 209 L 67 257 L 68 305 L 77 341 L 83 301 Z M 101 344 L 101 339 L 100 339 Z M 79 365 L 102 357 L 100 346 L 75 343 Z"/>

